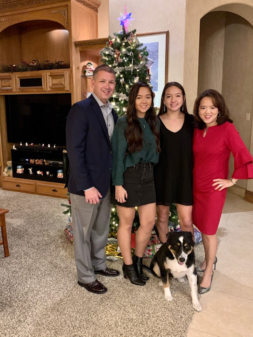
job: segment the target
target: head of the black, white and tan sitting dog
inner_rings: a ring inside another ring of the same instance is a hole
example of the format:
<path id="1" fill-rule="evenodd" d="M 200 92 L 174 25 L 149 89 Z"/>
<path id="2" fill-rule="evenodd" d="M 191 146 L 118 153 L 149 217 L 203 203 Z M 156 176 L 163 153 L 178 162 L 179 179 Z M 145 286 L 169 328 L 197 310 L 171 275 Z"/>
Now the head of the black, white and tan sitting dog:
<path id="1" fill-rule="evenodd" d="M 191 232 L 170 232 L 167 234 L 166 245 L 182 266 L 194 247 L 194 241 Z"/>

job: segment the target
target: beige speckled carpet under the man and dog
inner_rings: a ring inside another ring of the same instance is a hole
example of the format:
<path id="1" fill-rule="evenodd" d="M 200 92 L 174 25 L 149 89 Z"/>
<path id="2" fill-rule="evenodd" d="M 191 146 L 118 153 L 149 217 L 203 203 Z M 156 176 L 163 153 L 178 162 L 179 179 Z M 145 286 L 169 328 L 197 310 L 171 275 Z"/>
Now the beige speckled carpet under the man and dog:
<path id="1" fill-rule="evenodd" d="M 92 294 L 77 284 L 62 202 L 66 200 L 0 189 L 0 208 L 9 209 L 10 251 L 5 258 L 0 246 L 0 336 L 186 336 L 195 312 L 187 280 L 171 281 L 173 301 L 167 302 L 157 278 L 150 275 L 145 286 L 133 285 L 123 278 L 122 261 L 110 261 L 120 276 L 97 275 L 108 293 Z M 195 252 L 199 263 L 202 244 Z"/>

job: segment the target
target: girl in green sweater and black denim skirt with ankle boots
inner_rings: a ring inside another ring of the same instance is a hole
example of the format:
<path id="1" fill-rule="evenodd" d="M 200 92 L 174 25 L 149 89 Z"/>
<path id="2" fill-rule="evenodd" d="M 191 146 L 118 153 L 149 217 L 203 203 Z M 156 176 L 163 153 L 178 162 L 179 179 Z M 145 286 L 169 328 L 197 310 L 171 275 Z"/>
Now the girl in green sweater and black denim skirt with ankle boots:
<path id="1" fill-rule="evenodd" d="M 130 91 L 126 116 L 118 119 L 112 136 L 113 167 L 111 203 L 116 204 L 117 239 L 123 257 L 123 274 L 137 285 L 148 276 L 142 271 L 142 257 L 156 221 L 156 192 L 153 164 L 158 162 L 160 122 L 153 107 L 153 92 L 145 82 Z M 140 226 L 136 232 L 135 255 L 131 255 L 131 229 L 138 206 Z"/>

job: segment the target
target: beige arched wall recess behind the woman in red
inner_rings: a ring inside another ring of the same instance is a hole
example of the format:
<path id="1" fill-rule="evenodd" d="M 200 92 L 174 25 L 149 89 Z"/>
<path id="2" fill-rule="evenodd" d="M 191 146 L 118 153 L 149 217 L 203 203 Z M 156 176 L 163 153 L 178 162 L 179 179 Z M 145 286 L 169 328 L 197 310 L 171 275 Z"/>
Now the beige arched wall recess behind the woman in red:
<path id="1" fill-rule="evenodd" d="M 228 11 L 212 11 L 200 20 L 198 93 L 222 93 L 234 125 L 251 148 L 253 107 L 253 26 Z M 233 160 L 230 163 L 233 172 Z M 247 181 L 237 184 L 247 188 Z"/>

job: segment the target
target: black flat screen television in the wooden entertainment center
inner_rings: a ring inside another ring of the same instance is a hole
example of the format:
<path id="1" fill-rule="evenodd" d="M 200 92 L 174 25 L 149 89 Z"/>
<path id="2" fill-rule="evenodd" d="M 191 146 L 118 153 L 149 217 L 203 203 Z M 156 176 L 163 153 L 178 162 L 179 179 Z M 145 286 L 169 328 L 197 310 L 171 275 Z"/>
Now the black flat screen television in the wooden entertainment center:
<path id="1" fill-rule="evenodd" d="M 66 146 L 71 94 L 5 95 L 9 143 Z"/>

